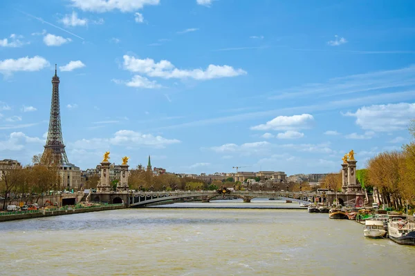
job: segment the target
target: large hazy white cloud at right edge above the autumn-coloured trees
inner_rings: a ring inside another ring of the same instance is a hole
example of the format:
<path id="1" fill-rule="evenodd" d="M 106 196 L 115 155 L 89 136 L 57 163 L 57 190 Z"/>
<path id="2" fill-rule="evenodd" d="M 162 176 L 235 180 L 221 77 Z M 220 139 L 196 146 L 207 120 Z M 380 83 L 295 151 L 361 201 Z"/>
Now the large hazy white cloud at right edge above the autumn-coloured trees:
<path id="1" fill-rule="evenodd" d="M 415 117 L 415 103 L 363 106 L 345 115 L 356 117 L 356 124 L 364 130 L 392 132 L 407 128 L 409 120 Z"/>

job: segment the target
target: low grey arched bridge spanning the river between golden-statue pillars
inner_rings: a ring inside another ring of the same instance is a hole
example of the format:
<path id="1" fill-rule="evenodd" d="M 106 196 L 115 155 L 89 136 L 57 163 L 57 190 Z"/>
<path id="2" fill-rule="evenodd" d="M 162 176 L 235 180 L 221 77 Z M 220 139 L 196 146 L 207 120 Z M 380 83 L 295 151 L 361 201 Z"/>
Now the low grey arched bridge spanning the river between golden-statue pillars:
<path id="1" fill-rule="evenodd" d="M 238 197 L 243 202 L 250 202 L 255 197 L 261 198 L 279 198 L 299 203 L 308 203 L 309 197 L 316 196 L 316 193 L 293 193 L 293 192 L 273 192 L 273 191 L 240 191 L 235 190 L 231 193 L 218 193 L 216 190 L 200 190 L 200 191 L 174 191 L 174 192 L 142 192 L 130 193 L 128 198 L 129 206 L 142 207 L 147 204 L 167 201 L 172 199 L 185 199 L 190 197 L 199 197 L 202 202 L 209 202 L 215 197 Z"/>

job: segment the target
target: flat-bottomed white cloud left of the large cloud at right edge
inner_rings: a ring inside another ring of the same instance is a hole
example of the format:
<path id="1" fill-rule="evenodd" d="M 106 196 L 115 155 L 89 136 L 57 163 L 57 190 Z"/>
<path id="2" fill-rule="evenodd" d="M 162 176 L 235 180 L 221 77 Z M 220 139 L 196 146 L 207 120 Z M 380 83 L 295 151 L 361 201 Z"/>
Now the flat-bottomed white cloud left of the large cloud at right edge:
<path id="1" fill-rule="evenodd" d="M 298 130 L 310 128 L 314 122 L 313 115 L 302 114 L 293 116 L 278 116 L 266 124 L 252 126 L 251 130 Z"/>

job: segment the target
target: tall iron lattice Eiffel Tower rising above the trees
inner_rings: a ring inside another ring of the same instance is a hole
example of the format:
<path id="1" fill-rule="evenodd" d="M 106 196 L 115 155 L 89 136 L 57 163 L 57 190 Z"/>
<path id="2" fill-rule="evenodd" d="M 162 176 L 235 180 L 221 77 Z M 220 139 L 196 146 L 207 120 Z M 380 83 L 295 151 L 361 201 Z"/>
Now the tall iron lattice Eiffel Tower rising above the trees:
<path id="1" fill-rule="evenodd" d="M 42 159 L 52 161 L 57 164 L 69 164 L 66 157 L 64 139 L 62 139 L 62 128 L 60 122 L 60 106 L 59 106 L 59 77 L 57 77 L 57 69 L 55 64 L 55 76 L 52 77 L 52 103 L 50 105 L 50 119 L 48 139 Z"/>

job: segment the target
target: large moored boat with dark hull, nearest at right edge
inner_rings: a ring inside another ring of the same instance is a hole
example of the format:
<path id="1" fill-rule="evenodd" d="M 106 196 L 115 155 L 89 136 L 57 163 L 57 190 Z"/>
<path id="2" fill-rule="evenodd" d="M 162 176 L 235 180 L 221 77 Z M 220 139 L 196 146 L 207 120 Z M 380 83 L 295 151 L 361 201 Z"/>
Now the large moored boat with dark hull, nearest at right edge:
<path id="1" fill-rule="evenodd" d="M 397 244 L 415 246 L 415 223 L 393 219 L 387 224 L 389 239 Z"/>

